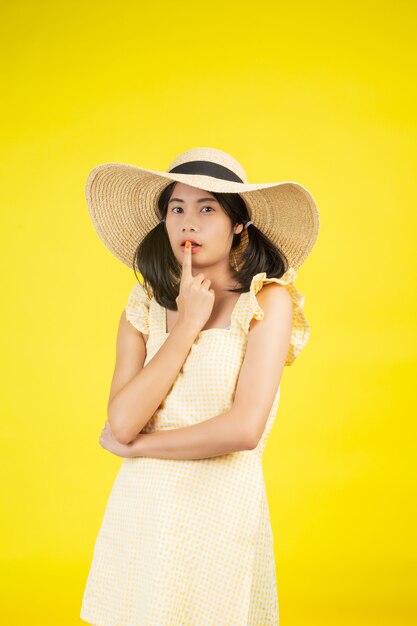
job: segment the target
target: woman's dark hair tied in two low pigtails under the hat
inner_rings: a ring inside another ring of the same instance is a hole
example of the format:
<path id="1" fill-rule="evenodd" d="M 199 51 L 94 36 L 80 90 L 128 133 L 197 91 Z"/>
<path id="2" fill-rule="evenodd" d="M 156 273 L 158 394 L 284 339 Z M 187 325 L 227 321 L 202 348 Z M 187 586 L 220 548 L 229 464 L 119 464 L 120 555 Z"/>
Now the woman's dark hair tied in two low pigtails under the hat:
<path id="1" fill-rule="evenodd" d="M 160 219 L 165 219 L 168 201 L 177 181 L 164 187 L 158 198 Z M 238 193 L 210 192 L 226 211 L 232 224 L 245 224 L 249 219 L 248 208 Z M 242 231 L 243 232 L 243 231 Z M 247 230 L 248 244 L 242 253 L 240 269 L 231 264 L 234 279 L 241 285 L 227 291 L 243 293 L 249 291 L 250 283 L 255 274 L 266 272 L 268 278 L 280 278 L 288 269 L 288 260 L 282 250 L 266 237 L 254 224 Z M 242 233 L 233 236 L 231 252 L 241 242 Z M 177 310 L 175 299 L 179 293 L 181 264 L 172 252 L 165 222 L 160 222 L 142 240 L 136 248 L 133 259 L 133 271 L 139 270 L 144 285 L 150 286 L 156 301 L 167 309 Z M 138 279 L 139 280 L 139 279 Z"/>

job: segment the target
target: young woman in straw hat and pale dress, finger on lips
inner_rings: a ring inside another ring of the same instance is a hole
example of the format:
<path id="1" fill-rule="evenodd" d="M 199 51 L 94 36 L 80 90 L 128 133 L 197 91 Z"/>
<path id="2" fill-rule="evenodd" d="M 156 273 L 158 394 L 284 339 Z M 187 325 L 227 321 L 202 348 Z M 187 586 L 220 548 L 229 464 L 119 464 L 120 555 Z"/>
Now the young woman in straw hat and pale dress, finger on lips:
<path id="1" fill-rule="evenodd" d="M 212 148 L 166 172 L 99 165 L 86 194 L 100 238 L 143 283 L 119 322 L 100 444 L 124 461 L 81 619 L 277 626 L 262 454 L 283 368 L 310 334 L 293 281 L 315 201 L 291 181 L 249 184 Z"/>

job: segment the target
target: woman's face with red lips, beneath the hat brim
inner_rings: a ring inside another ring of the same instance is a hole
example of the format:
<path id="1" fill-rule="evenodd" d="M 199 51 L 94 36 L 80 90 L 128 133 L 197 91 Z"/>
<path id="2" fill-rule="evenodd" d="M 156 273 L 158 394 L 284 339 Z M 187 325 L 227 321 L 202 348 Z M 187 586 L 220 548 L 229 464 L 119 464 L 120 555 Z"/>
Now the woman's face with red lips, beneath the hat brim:
<path id="1" fill-rule="evenodd" d="M 243 224 L 233 227 L 226 211 L 209 191 L 177 183 L 168 202 L 166 229 L 180 263 L 184 241 L 189 238 L 201 244 L 192 252 L 193 267 L 201 269 L 222 260 L 229 266 L 233 235 L 242 232 Z"/>

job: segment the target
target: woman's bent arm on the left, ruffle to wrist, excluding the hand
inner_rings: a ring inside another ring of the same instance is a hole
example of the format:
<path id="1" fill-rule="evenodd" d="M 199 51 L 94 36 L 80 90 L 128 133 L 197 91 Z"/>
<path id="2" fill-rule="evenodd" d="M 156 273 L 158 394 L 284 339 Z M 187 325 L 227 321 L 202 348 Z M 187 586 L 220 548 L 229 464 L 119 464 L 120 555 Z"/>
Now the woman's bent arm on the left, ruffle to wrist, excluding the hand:
<path id="1" fill-rule="evenodd" d="M 143 367 L 145 340 L 122 313 L 107 407 L 111 430 L 118 442 L 133 441 L 154 415 L 174 384 L 198 332 L 178 320 L 158 352 Z"/>

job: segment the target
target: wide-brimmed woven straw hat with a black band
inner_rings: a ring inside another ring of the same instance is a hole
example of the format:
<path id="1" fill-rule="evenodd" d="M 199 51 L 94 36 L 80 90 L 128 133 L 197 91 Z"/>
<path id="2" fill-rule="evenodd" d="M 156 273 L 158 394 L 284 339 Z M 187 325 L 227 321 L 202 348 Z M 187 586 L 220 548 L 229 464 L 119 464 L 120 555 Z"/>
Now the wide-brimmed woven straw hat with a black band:
<path id="1" fill-rule="evenodd" d="M 294 269 L 310 254 L 320 216 L 311 193 L 299 183 L 248 183 L 243 167 L 227 152 L 193 148 L 183 152 L 167 171 L 125 163 L 103 163 L 91 170 L 85 188 L 88 210 L 100 239 L 120 261 L 133 267 L 137 246 L 161 221 L 157 199 L 164 187 L 178 181 L 221 193 L 238 193 L 250 220 L 277 245 Z M 248 243 L 243 229 L 233 253 L 239 262 Z"/>

